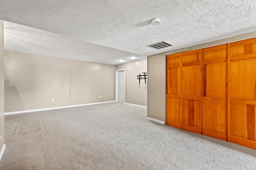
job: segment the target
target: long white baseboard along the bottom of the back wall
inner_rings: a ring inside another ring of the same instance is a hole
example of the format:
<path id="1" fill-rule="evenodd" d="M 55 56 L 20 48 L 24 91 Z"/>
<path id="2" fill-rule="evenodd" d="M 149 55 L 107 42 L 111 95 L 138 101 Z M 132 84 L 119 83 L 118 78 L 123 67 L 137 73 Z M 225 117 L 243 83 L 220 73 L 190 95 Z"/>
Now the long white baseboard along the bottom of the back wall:
<path id="1" fill-rule="evenodd" d="M 113 103 L 113 102 L 115 102 L 115 101 L 89 103 L 89 104 L 78 104 L 78 105 L 61 106 L 61 107 L 50 107 L 50 108 L 44 108 L 44 109 L 12 111 L 12 112 L 6 112 L 6 113 L 4 113 L 4 115 L 13 115 L 13 114 L 28 113 L 28 112 L 34 112 L 34 111 L 53 110 L 53 109 L 64 109 L 64 108 L 69 108 L 69 107 L 88 106 L 88 105 L 94 105 L 94 104 L 104 104 L 104 103 Z"/>

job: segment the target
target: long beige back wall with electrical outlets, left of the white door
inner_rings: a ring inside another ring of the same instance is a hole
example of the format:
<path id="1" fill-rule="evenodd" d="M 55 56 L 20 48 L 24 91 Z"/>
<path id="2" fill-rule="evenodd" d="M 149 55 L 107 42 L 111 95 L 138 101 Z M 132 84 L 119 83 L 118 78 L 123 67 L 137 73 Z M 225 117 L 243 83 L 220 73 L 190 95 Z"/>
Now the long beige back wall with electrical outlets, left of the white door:
<path id="1" fill-rule="evenodd" d="M 11 51 L 4 59 L 5 112 L 115 100 L 113 65 Z"/>

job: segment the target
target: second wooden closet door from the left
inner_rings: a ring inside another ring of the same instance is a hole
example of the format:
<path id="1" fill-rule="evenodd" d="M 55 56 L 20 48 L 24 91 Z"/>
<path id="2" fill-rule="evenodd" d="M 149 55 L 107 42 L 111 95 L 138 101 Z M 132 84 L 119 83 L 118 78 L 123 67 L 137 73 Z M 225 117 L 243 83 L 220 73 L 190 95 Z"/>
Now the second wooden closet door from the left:
<path id="1" fill-rule="evenodd" d="M 202 49 L 182 53 L 181 129 L 202 134 Z"/>

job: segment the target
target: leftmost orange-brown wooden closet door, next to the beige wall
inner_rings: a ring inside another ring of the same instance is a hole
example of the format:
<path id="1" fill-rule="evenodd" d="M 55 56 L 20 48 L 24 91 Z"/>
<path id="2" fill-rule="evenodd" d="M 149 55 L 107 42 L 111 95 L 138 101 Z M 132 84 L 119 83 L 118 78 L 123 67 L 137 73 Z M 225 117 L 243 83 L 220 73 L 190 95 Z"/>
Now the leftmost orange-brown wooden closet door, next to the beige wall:
<path id="1" fill-rule="evenodd" d="M 166 58 L 166 124 L 180 129 L 181 53 Z"/>

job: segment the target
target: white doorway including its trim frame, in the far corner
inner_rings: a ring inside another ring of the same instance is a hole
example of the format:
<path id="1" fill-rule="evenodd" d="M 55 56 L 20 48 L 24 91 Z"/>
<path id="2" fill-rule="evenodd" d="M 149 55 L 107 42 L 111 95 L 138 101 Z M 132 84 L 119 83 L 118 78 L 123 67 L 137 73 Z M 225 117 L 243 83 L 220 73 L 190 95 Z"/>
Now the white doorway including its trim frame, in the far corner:
<path id="1" fill-rule="evenodd" d="M 116 102 L 124 103 L 124 69 L 116 70 Z"/>

